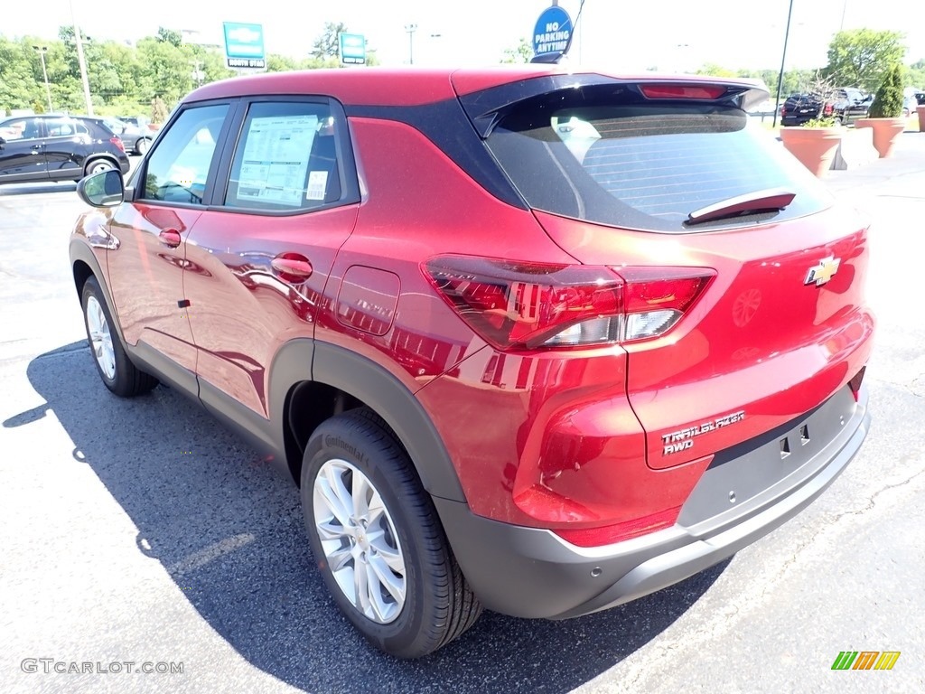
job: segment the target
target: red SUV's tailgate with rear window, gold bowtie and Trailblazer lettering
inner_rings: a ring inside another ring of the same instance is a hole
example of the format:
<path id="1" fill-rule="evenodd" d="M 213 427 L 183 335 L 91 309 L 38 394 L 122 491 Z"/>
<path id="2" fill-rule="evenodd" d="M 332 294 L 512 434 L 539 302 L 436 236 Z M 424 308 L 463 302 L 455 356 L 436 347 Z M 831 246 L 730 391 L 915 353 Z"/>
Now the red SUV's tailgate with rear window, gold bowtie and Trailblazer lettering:
<path id="1" fill-rule="evenodd" d="M 722 89 L 622 92 L 537 96 L 487 143 L 562 249 L 626 281 L 626 391 L 663 468 L 846 387 L 870 354 L 867 230 L 734 100 L 705 98 Z"/>

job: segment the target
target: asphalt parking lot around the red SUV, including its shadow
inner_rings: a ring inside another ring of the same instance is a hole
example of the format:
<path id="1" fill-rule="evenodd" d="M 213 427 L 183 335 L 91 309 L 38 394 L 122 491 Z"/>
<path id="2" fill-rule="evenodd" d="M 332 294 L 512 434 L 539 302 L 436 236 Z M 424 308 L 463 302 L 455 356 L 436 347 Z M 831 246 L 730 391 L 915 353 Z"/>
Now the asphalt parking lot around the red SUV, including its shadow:
<path id="1" fill-rule="evenodd" d="M 870 217 L 879 321 L 873 428 L 845 474 L 672 589 L 561 623 L 486 613 L 410 663 L 327 598 L 289 480 L 176 392 L 99 382 L 74 185 L 0 187 L 0 691 L 925 690 L 925 133 L 827 185 Z M 836 672 L 840 651 L 901 655 Z"/>

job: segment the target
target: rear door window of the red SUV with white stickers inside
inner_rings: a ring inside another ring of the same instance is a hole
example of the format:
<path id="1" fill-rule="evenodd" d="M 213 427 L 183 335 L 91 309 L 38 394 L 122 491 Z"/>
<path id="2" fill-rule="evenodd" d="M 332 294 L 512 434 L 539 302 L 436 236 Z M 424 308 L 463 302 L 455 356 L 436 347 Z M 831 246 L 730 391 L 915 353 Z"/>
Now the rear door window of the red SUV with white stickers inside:
<path id="1" fill-rule="evenodd" d="M 231 164 L 225 204 L 298 212 L 338 202 L 339 127 L 327 103 L 252 104 Z"/>

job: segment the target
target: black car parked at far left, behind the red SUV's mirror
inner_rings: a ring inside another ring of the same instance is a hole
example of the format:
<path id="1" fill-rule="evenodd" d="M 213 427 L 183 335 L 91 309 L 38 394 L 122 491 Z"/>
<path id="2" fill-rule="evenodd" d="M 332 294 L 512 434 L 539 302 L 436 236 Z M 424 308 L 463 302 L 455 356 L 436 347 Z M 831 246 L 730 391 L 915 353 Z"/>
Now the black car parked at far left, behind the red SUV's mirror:
<path id="1" fill-rule="evenodd" d="M 118 136 L 101 121 L 74 116 L 0 120 L 0 183 L 80 180 L 97 171 L 129 171 Z"/>

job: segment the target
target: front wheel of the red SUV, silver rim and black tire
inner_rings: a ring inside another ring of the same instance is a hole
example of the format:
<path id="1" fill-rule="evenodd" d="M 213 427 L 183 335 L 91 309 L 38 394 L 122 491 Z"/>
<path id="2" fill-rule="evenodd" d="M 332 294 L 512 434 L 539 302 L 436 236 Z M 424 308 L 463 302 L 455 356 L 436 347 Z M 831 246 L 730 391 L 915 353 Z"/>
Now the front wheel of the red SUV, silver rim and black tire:
<path id="1" fill-rule="evenodd" d="M 131 363 L 113 322 L 105 294 L 95 277 L 87 278 L 80 291 L 83 326 L 93 353 L 93 364 L 105 387 L 118 396 L 142 395 L 157 385 L 157 379 Z M 110 353 L 111 351 L 111 353 Z"/>

